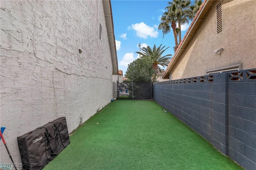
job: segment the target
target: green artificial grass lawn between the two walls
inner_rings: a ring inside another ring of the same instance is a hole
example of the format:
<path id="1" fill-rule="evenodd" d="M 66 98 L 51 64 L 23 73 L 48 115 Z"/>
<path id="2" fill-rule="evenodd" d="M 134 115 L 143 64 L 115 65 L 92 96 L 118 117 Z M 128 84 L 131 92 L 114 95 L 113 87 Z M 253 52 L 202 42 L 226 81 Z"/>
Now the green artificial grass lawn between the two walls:
<path id="1" fill-rule="evenodd" d="M 73 134 L 44 170 L 243 169 L 155 102 L 116 100 Z"/>

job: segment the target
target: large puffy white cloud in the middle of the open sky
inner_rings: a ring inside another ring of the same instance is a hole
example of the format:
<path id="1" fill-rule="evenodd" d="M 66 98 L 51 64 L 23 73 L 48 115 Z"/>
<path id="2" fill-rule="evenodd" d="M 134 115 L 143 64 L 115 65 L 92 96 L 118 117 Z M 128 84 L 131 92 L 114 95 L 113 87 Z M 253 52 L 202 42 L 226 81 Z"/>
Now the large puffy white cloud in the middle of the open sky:
<path id="1" fill-rule="evenodd" d="M 159 34 L 158 31 L 154 29 L 154 27 L 150 27 L 146 25 L 144 22 L 132 24 L 130 29 L 131 28 L 136 31 L 136 35 L 138 37 L 141 37 L 144 39 L 147 39 L 148 36 L 156 38 L 158 37 L 158 34 Z"/>

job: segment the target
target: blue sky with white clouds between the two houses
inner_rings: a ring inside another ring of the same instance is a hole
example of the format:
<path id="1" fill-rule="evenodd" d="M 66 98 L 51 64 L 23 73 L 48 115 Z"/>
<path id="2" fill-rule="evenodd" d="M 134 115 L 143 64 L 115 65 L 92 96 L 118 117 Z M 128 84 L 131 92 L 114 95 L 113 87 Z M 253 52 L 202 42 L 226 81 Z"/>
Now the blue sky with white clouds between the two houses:
<path id="1" fill-rule="evenodd" d="M 125 74 L 128 64 L 139 57 L 136 51 L 154 44 L 169 47 L 166 54 L 174 55 L 174 36 L 170 32 L 164 36 L 158 30 L 160 17 L 170 0 L 111 0 L 116 38 L 118 69 Z M 190 25 L 182 25 L 182 38 Z M 165 67 L 166 68 L 166 67 Z"/>

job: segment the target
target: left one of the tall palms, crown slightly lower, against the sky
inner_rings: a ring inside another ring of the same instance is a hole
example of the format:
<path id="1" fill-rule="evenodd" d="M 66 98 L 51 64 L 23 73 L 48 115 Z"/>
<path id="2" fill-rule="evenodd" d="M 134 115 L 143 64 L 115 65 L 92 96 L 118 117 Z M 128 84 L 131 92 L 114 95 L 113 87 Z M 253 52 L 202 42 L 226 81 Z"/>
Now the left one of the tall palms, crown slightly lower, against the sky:
<path id="1" fill-rule="evenodd" d="M 170 17 L 168 17 L 167 15 L 168 15 L 168 12 L 164 12 L 164 14 L 161 17 L 161 23 L 159 24 L 158 29 L 162 30 L 163 38 L 164 38 L 164 35 L 169 33 L 170 27 L 172 27 L 172 31 L 174 34 L 175 46 L 178 46 L 177 31 L 176 31 L 176 19 L 172 15 L 169 15 Z"/>

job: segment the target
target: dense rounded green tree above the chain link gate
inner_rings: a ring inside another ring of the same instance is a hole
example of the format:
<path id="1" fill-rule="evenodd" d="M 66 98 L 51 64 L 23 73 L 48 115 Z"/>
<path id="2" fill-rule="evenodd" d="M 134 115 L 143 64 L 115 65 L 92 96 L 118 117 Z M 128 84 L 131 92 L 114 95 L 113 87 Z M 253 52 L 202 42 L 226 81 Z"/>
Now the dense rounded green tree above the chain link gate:
<path id="1" fill-rule="evenodd" d="M 151 82 L 155 70 L 150 58 L 136 59 L 128 64 L 125 77 L 136 82 Z"/>

